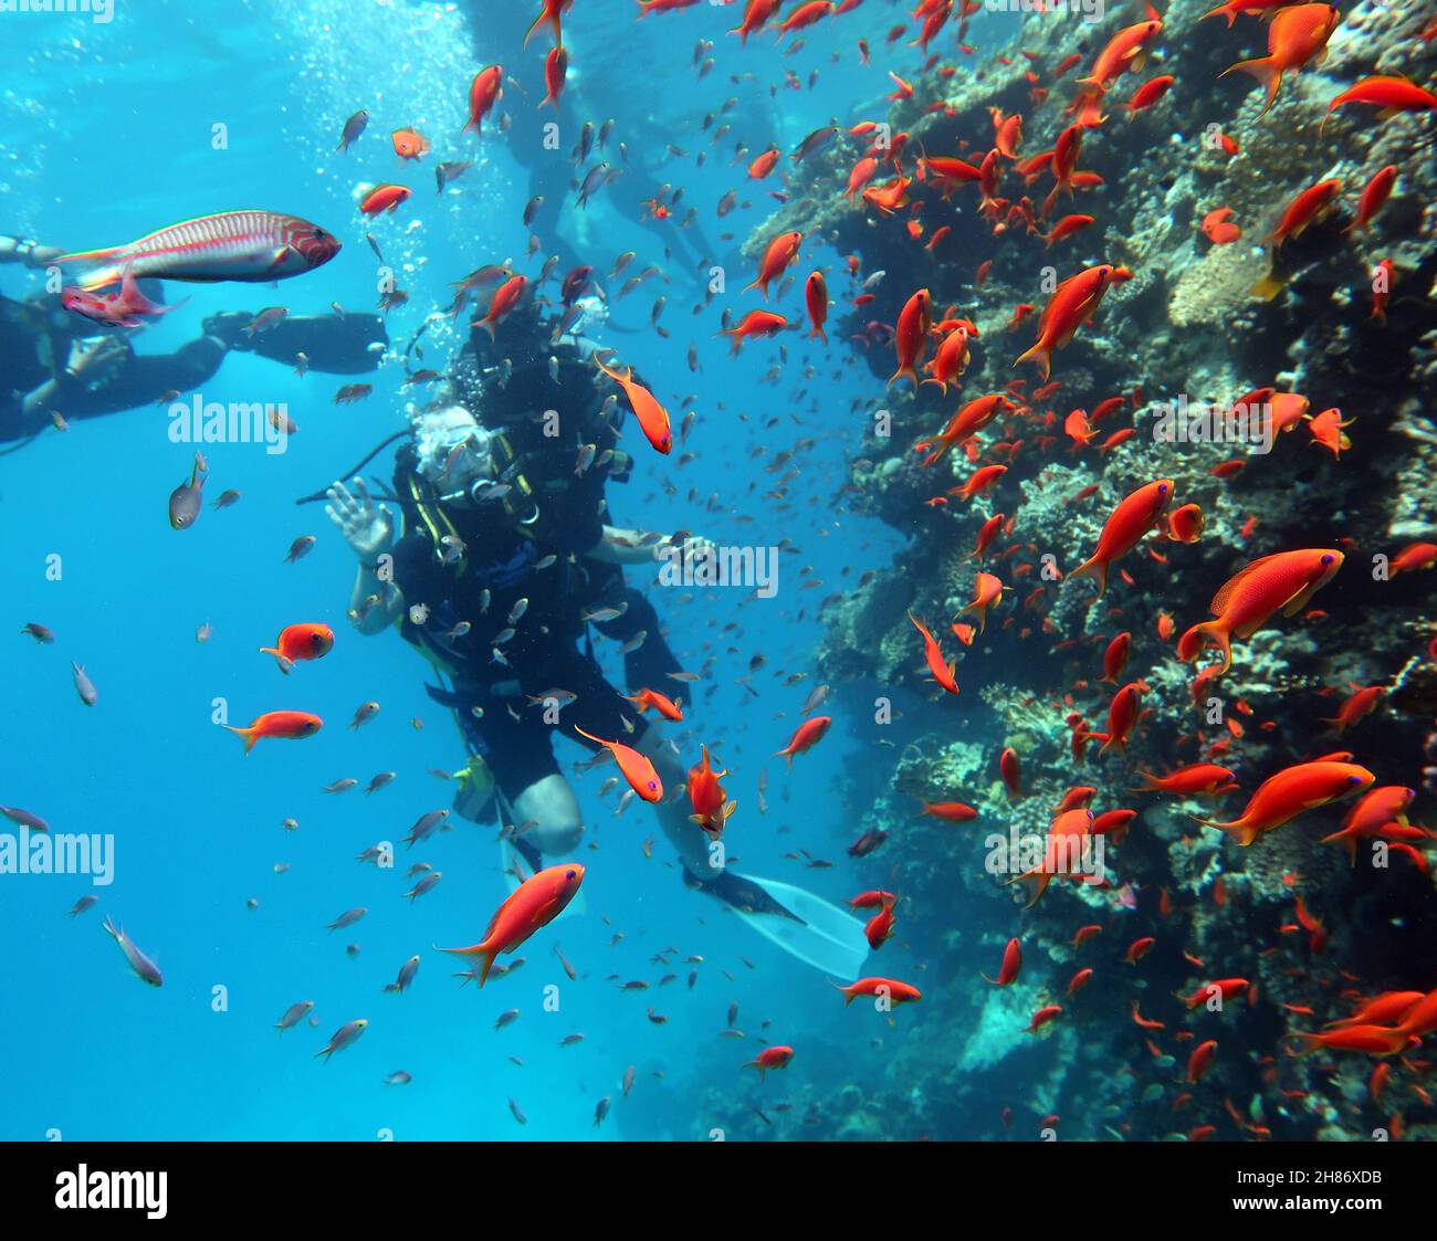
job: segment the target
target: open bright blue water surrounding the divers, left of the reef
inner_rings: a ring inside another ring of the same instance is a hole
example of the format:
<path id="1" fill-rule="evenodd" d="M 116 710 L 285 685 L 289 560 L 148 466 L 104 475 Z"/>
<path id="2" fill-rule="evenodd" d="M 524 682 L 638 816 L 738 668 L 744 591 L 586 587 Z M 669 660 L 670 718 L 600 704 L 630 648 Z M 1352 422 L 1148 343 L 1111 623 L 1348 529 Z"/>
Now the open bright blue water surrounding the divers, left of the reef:
<path id="1" fill-rule="evenodd" d="M 698 411 L 687 445 L 696 460 L 680 464 L 683 450 L 664 460 L 638 444 L 632 481 L 611 487 L 609 500 L 622 524 L 693 529 L 720 543 L 790 540 L 800 549 L 785 556 L 787 576 L 772 600 L 749 600 L 739 589 L 687 603 L 678 592 L 651 595 L 685 666 L 714 661 L 708 682 L 696 687 L 688 720 L 671 731 L 685 764 L 707 741 L 733 771 L 729 791 L 740 809 L 730 849 L 757 873 L 842 901 L 861 882 L 844 849 L 869 824 L 844 804 L 838 781 L 871 761 L 875 727 L 841 717 L 792 774 L 770 756 L 822 679 L 813 664 L 819 600 L 888 563 L 898 547 L 877 520 L 835 501 L 862 425 L 851 402 L 881 404 L 881 381 L 846 350 L 810 349 L 796 333 L 786 338 L 777 378 L 764 379 L 779 365 L 772 346 L 750 346 L 730 361 L 727 342 L 711 333 L 724 306 L 741 312 L 759 305 L 737 293 L 752 264 L 736 246 L 772 201 L 743 182 L 743 168 L 727 158 L 731 144 L 741 136 L 756 154 L 772 139 L 789 149 L 831 116 L 851 124 L 877 115 L 881 95 L 874 75 L 856 76 L 852 43 L 861 30 L 881 47 L 891 14 L 882 4 L 868 7 L 859 24 L 808 32 L 798 56 L 756 40 L 740 60 L 737 40 L 721 33 L 737 20 L 733 6 L 635 22 L 628 4 L 581 0 L 565 24 L 572 69 L 562 152 L 552 157 L 552 171 L 535 177 L 489 125 L 483 141 L 458 138 L 468 80 L 484 63 L 504 60 L 527 90 L 503 106 L 532 108 L 542 93 L 547 39 L 536 37 L 520 53 L 510 36 L 527 17 L 512 14 L 507 0 L 121 0 L 108 26 L 83 16 L 7 14 L 0 19 L 7 60 L 0 231 L 91 248 L 193 215 L 260 207 L 303 215 L 345 243 L 329 266 L 277 292 L 170 286 L 171 300 L 188 293 L 191 302 L 139 333 L 139 352 L 175 348 L 191 339 L 201 317 L 221 309 L 283 303 L 292 315 L 325 313 L 331 302 L 372 309 L 376 264 L 364 241 L 372 231 L 411 297 L 388 320 L 399 345 L 425 315 L 448 305 L 450 282 L 471 269 L 513 256 L 536 276 L 549 238 L 537 256 L 525 257 L 519 217 L 526 200 L 545 192 L 572 201 L 566 152 L 582 119 L 599 124 L 651 109 L 660 129 L 690 151 L 687 159 L 668 161 L 662 180 L 683 185 L 685 203 L 700 208 L 708 244 L 729 269 L 730 293 L 694 316 L 701 297 L 694 274 L 678 257 L 665 259 L 641 223 L 616 213 L 608 192 L 586 218 L 565 210 L 560 231 L 599 273 L 635 248 L 632 271 L 652 261 L 671 274 L 662 322 L 673 338 L 662 340 L 647 327 L 658 292 L 648 282 L 614 312 L 616 325 L 635 330 L 602 343 L 641 368 L 670 402 L 675 424 L 681 411 Z M 701 36 L 714 40 L 717 66 L 696 86 L 691 57 Z M 842 63 L 831 65 L 839 52 Z M 892 66 L 901 72 L 914 55 L 895 53 Z M 805 82 L 819 70 L 818 86 L 770 98 L 766 83 L 789 68 Z M 739 72 L 756 78 L 733 86 L 729 75 Z M 696 169 L 693 152 L 710 136 L 698 122 L 729 95 L 743 96 L 747 119 Z M 369 109 L 369 129 L 348 155 L 336 155 L 339 129 L 358 108 Z M 227 129 L 226 149 L 216 149 L 216 125 Z M 389 148 L 388 132 L 404 125 L 434 141 L 420 165 L 401 165 Z M 622 136 L 621 119 L 615 139 Z M 456 184 L 460 192 L 441 198 L 433 188 L 434 164 L 456 158 L 480 162 Z M 414 198 L 371 223 L 355 205 L 359 181 L 402 181 Z M 714 204 L 736 185 L 753 205 L 720 221 Z M 723 233 L 736 237 L 726 241 Z M 829 264 L 836 290 L 844 256 L 812 253 Z M 0 267 L 0 292 L 17 297 L 37 279 Z M 782 309 L 802 317 L 802 274 Z M 697 375 L 685 362 L 690 342 L 703 368 Z M 435 333 L 427 365 L 443 369 L 454 345 Z M 68 434 L 47 431 L 0 458 L 7 629 L 0 800 L 42 814 L 56 832 L 112 833 L 116 850 L 115 879 L 105 888 L 92 888 L 85 876 L 0 878 L 9 1018 L 0 1023 L 0 1056 L 13 1070 L 0 1086 L 0 1135 L 691 1138 L 708 1128 L 704 1092 L 760 1097 L 757 1076 L 740 1067 L 760 1037 L 799 1041 L 800 1031 L 813 1031 L 822 1038 L 808 1053 L 810 1080 L 877 1073 L 882 1053 L 871 1050 L 871 1031 L 855 1026 L 838 1037 L 825 1028 L 844 1010 L 822 975 L 684 891 L 645 807 L 614 817 L 612 796 L 598 800 L 612 768 L 576 777 L 589 824 L 582 853 L 588 912 L 536 935 L 519 954 L 527 964 L 481 993 L 461 988 L 451 977 L 458 968 L 453 958 L 430 945 L 480 938 L 503 898 L 494 829 L 451 820 L 453 830 L 425 846 L 401 849 L 399 866 L 389 872 L 354 860 L 376 840 L 398 840 L 421 813 L 448 804 L 450 786 L 428 770 L 463 761 L 453 722 L 421 691 L 427 665 L 392 633 L 362 639 L 351 631 L 345 608 L 354 557 L 318 506 L 293 504 L 402 427 L 399 365 L 364 378 L 372 378 L 371 398 L 335 405 L 335 388 L 351 381 L 315 372 L 299 378 L 231 353 L 203 386 L 204 398 L 287 402 L 300 432 L 283 455 L 249 444 L 208 445 L 208 498 L 236 488 L 241 500 L 221 511 L 205 507 L 182 533 L 168 526 L 165 503 L 187 477 L 191 452 L 167 438 L 162 408 L 75 422 Z M 687 394 L 694 394 L 691 405 L 681 404 Z M 631 444 L 637 434 L 631 427 Z M 764 498 L 782 473 L 766 467 L 800 437 L 819 444 L 795 463 L 800 473 L 786 500 Z M 760 447 L 766 451 L 754 455 Z M 387 477 L 388 468 L 376 473 Z M 283 563 L 302 534 L 318 536 L 315 550 Z M 59 580 L 46 573 L 55 563 Z M 799 566 L 812 566 L 823 586 L 798 589 Z M 629 576 L 639 583 L 634 570 Z M 326 659 L 285 678 L 256 648 L 302 620 L 329 623 L 338 642 Z M 27 622 L 50 626 L 55 645 L 19 636 Z M 724 632 L 730 622 L 739 628 Z M 195 641 L 201 623 L 213 626 L 205 643 Z M 753 677 L 753 697 L 736 681 L 760 652 L 767 664 Z M 609 648 L 605 659 L 614 669 L 611 656 Z M 99 689 L 93 708 L 72 689 L 70 659 L 85 665 Z M 785 687 L 793 672 L 809 679 Z M 378 718 L 351 731 L 345 725 L 368 699 L 381 704 Z M 231 722 L 260 711 L 308 710 L 326 727 L 302 743 L 260 744 L 246 757 L 216 725 L 221 708 Z M 414 717 L 422 731 L 411 727 Z M 566 770 L 583 757 L 568 743 L 559 748 Z M 398 778 L 374 796 L 320 791 L 341 777 L 362 787 L 385 770 Z M 769 778 L 766 816 L 757 813 L 760 771 Z M 293 833 L 280 827 L 289 817 L 299 822 Z M 655 843 L 645 859 L 650 837 Z M 836 865 L 802 869 L 783 856 L 798 847 Z M 401 899 L 411 860 L 444 875 L 412 905 Z M 276 873 L 277 866 L 285 872 Z M 99 903 L 68 918 L 86 892 Z M 257 908 L 247 908 L 250 899 Z M 325 929 L 361 905 L 369 914 L 358 926 Z M 101 929 L 103 915 L 158 962 L 162 988 L 131 975 Z M 622 939 L 614 944 L 616 934 Z M 349 944 L 361 947 L 354 959 Z M 555 944 L 581 971 L 579 982 L 565 978 Z M 660 949 L 677 949 L 673 964 L 651 961 Z M 887 951 L 887 968 L 902 977 L 911 958 L 901 945 Z M 422 964 L 411 990 L 381 994 L 412 954 Z M 704 962 L 681 964 L 688 955 Z M 684 982 L 690 968 L 700 974 L 691 991 Z M 605 981 L 618 975 L 657 984 L 665 972 L 678 981 L 644 993 L 621 993 Z M 549 984 L 559 987 L 558 1013 L 543 1011 Z M 279 1034 L 273 1023 L 299 1000 L 315 1001 L 316 1024 Z M 749 1034 L 741 1041 L 720 1037 L 730 1003 L 739 1004 L 737 1026 Z M 648 1020 L 651 1005 L 667 1024 Z M 522 1015 L 496 1033 L 496 1017 L 507 1008 Z M 333 1030 L 361 1017 L 371 1024 L 354 1047 L 328 1064 L 315 1059 Z M 560 1049 L 572 1033 L 586 1037 Z M 621 1097 L 628 1066 L 637 1082 Z M 395 1070 L 412 1074 L 412 1083 L 387 1087 L 384 1079 Z M 790 1072 L 800 1072 L 800 1061 Z M 770 1077 L 764 1097 L 782 1099 L 783 1089 L 782 1079 L 773 1086 Z M 614 1107 L 595 1129 L 602 1096 L 612 1096 Z M 510 1099 L 526 1126 L 513 1120 Z"/>

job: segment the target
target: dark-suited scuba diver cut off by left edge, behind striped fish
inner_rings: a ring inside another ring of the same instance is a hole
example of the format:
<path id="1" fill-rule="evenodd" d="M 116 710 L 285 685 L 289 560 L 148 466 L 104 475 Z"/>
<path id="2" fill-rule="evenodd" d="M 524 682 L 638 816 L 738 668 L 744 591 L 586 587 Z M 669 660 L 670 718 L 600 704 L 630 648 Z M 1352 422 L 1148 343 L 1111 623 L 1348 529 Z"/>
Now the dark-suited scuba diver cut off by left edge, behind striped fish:
<path id="1" fill-rule="evenodd" d="M 17 237 L 0 237 L 0 263 L 46 269 L 62 250 Z M 155 282 L 141 280 L 139 286 Z M 160 300 L 157 290 L 151 292 Z M 53 294 L 23 300 L 0 296 L 0 442 L 13 452 L 52 425 L 154 405 L 171 392 L 207 382 L 231 349 L 332 375 L 374 371 L 388 346 L 378 315 L 289 316 L 250 335 L 254 316 L 211 315 L 204 335 L 174 353 L 139 355 L 125 329 L 72 315 Z M 303 355 L 300 359 L 299 355 Z"/>

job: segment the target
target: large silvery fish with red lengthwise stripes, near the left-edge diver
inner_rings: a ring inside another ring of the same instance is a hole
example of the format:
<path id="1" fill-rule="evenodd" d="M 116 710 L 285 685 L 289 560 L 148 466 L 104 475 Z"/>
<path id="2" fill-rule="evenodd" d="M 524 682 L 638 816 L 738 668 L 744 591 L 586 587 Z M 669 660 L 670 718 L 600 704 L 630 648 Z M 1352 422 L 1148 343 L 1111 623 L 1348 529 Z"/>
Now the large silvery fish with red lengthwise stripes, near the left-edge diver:
<path id="1" fill-rule="evenodd" d="M 59 263 L 102 263 L 80 280 L 86 293 L 121 280 L 129 267 L 137 280 L 257 284 L 302 276 L 339 253 L 339 241 L 297 215 L 273 211 L 223 211 L 171 224 L 158 233 L 112 246 L 63 254 Z"/>

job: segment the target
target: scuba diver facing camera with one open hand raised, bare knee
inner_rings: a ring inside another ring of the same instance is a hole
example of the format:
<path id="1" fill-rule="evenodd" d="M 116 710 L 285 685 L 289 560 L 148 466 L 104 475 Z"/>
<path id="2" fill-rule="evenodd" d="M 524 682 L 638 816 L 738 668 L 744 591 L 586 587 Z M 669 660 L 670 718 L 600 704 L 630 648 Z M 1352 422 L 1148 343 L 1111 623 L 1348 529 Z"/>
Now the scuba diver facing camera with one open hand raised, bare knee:
<path id="1" fill-rule="evenodd" d="M 579 305 L 575 333 L 602 313 L 596 299 Z M 497 806 L 514 883 L 523 872 L 513 855 L 537 870 L 552 865 L 546 856 L 581 845 L 579 801 L 559 770 L 553 733 L 601 751 L 582 728 L 654 764 L 668 790 L 654 809 L 685 883 L 819 968 L 856 968 L 867 954 L 856 919 L 711 859 L 677 793 L 687 773 L 674 747 L 593 656 L 591 626 L 624 643 L 631 694 L 678 698 L 683 682 L 670 674 L 681 665 L 622 566 L 710 549 L 690 534 L 612 524 L 605 487 L 627 480 L 631 463 L 616 447 L 614 399 L 595 384 L 593 350 L 579 335 L 556 345 L 533 302 L 504 319 L 497 346 L 471 332 L 441 395 L 411 409 L 410 431 L 385 441 L 404 440 L 394 490 L 379 496 L 402 510 L 402 531 L 362 478 L 331 484 L 326 513 L 359 560 L 351 622 L 365 635 L 397 625 L 437 671 L 440 684 L 425 689 L 453 710 L 470 754 L 454 809 L 491 822 Z"/>

